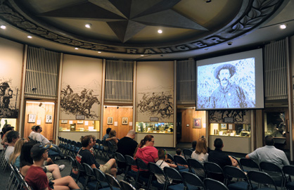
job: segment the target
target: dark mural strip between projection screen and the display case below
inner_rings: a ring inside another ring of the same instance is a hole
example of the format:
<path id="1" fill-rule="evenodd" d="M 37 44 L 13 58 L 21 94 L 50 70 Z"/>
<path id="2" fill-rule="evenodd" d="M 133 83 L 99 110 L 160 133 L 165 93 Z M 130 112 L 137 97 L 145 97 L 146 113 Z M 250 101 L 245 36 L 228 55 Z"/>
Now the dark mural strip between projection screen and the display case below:
<path id="1" fill-rule="evenodd" d="M 209 120 L 223 123 L 224 118 L 233 118 L 234 123 L 250 124 L 250 110 L 209 110 Z"/>

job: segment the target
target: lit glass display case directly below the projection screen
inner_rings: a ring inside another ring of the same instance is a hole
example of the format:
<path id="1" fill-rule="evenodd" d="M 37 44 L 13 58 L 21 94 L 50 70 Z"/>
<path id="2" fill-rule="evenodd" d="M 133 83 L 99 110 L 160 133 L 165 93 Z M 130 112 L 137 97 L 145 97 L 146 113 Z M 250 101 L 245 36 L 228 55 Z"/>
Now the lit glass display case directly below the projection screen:
<path id="1" fill-rule="evenodd" d="M 210 135 L 230 136 L 230 137 L 250 137 L 250 124 L 235 123 L 211 123 Z"/>

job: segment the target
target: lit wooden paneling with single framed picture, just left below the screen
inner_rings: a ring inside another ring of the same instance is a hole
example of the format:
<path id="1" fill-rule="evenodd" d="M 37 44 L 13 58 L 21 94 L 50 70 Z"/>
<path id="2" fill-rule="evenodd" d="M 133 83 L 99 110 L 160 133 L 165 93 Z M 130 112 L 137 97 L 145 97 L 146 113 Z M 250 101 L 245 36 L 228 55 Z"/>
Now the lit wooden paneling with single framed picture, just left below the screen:
<path id="1" fill-rule="evenodd" d="M 201 136 L 205 136 L 205 111 L 195 111 L 191 108 L 179 109 L 181 112 L 181 142 L 197 141 Z M 201 118 L 201 129 L 193 128 L 193 118 Z M 186 127 L 186 125 L 189 125 Z M 206 125 L 205 125 L 206 126 Z"/>

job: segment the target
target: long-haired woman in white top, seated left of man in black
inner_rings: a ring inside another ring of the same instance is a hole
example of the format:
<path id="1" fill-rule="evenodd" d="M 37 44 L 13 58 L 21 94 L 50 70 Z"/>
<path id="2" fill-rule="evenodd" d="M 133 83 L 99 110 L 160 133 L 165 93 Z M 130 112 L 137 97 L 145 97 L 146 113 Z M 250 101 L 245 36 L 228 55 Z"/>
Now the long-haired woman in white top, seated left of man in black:
<path id="1" fill-rule="evenodd" d="M 191 158 L 198 160 L 200 163 L 207 162 L 208 153 L 207 153 L 207 144 L 206 139 L 198 139 L 196 150 L 193 151 Z M 205 176 L 204 170 L 194 169 L 196 175 L 200 175 L 202 177 Z"/>

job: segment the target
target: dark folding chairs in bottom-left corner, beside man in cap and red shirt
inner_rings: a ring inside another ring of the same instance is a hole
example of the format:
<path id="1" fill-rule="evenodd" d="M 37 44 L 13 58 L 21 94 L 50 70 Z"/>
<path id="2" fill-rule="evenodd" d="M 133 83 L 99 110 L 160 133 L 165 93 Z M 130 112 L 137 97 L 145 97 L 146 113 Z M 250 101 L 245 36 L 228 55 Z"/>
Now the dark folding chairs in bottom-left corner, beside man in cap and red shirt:
<path id="1" fill-rule="evenodd" d="M 14 165 L 9 164 L 11 168 L 11 175 L 8 179 L 6 190 L 20 189 L 20 190 L 32 190 L 32 188 L 25 182 L 23 175 L 20 174 L 18 168 Z"/>

